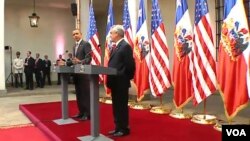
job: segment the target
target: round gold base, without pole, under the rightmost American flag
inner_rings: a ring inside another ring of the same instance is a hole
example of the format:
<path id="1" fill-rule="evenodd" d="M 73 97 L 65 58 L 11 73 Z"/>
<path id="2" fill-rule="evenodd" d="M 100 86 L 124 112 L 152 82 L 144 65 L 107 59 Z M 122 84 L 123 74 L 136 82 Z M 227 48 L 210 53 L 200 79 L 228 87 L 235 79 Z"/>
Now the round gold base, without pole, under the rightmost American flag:
<path id="1" fill-rule="evenodd" d="M 196 114 L 193 115 L 191 121 L 198 124 L 215 124 L 216 117 L 213 115 Z"/>

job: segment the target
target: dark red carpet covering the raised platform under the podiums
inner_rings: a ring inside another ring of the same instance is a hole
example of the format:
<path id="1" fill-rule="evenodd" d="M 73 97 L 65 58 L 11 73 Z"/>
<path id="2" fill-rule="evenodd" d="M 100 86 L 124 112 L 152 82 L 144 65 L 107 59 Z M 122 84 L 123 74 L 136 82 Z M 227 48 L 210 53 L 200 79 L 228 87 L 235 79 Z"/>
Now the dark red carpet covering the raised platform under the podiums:
<path id="1" fill-rule="evenodd" d="M 69 125 L 53 122 L 61 118 L 61 103 L 20 105 L 20 109 L 52 140 L 74 141 L 90 134 L 90 121 Z M 77 113 L 76 102 L 69 102 L 69 115 Z M 131 134 L 125 137 L 110 137 L 115 141 L 220 141 L 221 132 L 213 125 L 200 125 L 189 119 L 175 119 L 168 115 L 150 113 L 148 110 L 130 109 Z M 111 105 L 100 104 L 100 133 L 114 129 Z"/>

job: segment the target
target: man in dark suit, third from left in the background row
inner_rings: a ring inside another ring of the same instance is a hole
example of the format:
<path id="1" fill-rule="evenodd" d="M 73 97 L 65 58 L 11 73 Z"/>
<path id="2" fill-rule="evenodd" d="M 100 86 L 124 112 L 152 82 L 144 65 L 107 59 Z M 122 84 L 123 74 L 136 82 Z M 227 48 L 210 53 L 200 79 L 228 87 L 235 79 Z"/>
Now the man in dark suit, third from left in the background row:
<path id="1" fill-rule="evenodd" d="M 40 58 L 40 54 L 36 53 L 34 72 L 36 78 L 36 87 L 40 88 L 43 88 L 42 70 L 43 70 L 43 60 Z"/>

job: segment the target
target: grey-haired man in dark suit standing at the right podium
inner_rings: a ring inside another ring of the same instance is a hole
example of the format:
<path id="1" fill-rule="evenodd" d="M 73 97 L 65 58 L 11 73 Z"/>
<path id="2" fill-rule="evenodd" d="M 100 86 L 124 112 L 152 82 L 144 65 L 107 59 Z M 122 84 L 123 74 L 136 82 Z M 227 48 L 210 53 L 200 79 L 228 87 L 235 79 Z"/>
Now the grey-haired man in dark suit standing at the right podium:
<path id="1" fill-rule="evenodd" d="M 130 133 L 128 92 L 130 80 L 135 73 L 135 61 L 131 46 L 123 39 L 122 25 L 114 25 L 110 31 L 111 41 L 115 46 L 111 49 L 108 67 L 116 68 L 117 75 L 108 75 L 107 86 L 111 89 L 113 117 L 115 129 L 109 134 L 125 136 Z"/>

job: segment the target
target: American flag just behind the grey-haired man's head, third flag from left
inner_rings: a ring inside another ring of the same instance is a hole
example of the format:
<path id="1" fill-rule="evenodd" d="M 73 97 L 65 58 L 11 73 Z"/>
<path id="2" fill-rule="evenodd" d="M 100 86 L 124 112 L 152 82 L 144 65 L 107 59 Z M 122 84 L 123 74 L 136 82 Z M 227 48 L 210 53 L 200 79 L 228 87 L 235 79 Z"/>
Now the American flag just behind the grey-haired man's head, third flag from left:
<path id="1" fill-rule="evenodd" d="M 123 27 L 125 29 L 125 40 L 134 48 L 133 42 L 133 32 L 130 22 L 129 9 L 128 9 L 128 0 L 124 0 L 124 9 L 123 9 Z"/>

